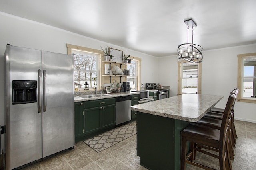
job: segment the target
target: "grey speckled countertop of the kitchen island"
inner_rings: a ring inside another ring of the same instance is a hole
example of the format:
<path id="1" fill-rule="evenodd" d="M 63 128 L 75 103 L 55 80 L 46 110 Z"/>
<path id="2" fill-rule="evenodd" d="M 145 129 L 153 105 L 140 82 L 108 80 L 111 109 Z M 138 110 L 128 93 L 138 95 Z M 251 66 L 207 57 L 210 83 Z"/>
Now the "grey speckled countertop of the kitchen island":
<path id="1" fill-rule="evenodd" d="M 173 119 L 196 122 L 224 96 L 208 94 L 182 94 L 131 106 L 132 110 Z"/>

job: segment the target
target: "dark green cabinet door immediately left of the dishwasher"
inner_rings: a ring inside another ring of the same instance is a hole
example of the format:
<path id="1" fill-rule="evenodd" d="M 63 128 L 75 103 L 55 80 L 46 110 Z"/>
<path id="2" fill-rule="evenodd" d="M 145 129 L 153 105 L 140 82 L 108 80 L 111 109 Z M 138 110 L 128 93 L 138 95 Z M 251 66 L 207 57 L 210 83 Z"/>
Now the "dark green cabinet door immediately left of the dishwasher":
<path id="1" fill-rule="evenodd" d="M 103 106 L 102 113 L 102 129 L 116 125 L 116 105 Z"/>

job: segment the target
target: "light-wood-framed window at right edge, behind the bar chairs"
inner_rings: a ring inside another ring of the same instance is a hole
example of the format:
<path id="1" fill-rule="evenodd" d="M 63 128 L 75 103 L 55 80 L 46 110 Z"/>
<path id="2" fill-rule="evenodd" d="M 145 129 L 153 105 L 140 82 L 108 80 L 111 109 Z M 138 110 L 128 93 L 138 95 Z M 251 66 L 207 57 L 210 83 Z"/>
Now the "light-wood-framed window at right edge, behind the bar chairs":
<path id="1" fill-rule="evenodd" d="M 240 102 L 256 103 L 256 53 L 240 54 L 238 57 L 238 92 Z"/>

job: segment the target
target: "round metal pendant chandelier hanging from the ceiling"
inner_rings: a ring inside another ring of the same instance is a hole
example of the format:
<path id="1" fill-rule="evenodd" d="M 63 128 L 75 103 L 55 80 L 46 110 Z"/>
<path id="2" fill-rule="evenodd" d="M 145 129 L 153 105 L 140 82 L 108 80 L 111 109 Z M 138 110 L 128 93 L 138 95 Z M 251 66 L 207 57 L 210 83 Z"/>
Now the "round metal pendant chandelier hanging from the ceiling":
<path id="1" fill-rule="evenodd" d="M 202 49 L 200 45 L 193 44 L 194 27 L 196 23 L 192 19 L 184 20 L 188 29 L 192 27 L 192 44 L 186 43 L 178 46 L 178 61 L 181 63 L 201 63 L 203 60 Z"/>

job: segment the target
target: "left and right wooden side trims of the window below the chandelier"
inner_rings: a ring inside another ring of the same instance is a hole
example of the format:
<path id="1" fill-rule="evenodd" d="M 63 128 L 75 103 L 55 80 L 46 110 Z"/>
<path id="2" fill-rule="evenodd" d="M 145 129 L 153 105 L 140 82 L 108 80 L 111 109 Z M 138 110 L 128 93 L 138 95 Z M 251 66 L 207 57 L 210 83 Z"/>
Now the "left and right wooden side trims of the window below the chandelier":
<path id="1" fill-rule="evenodd" d="M 182 64 L 181 62 L 178 61 L 178 95 L 180 94 L 186 94 L 182 93 L 182 77 L 183 77 L 183 72 L 182 72 Z M 197 94 L 201 94 L 201 83 L 202 83 L 202 63 L 198 63 L 197 66 Z"/>

